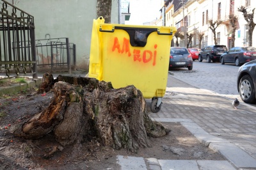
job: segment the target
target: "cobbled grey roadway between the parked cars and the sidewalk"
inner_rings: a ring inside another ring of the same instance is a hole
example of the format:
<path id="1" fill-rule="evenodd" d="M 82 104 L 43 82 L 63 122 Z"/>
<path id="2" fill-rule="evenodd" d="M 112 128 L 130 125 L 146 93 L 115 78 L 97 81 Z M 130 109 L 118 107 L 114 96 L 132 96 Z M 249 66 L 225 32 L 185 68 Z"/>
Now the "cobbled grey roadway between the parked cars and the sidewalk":
<path id="1" fill-rule="evenodd" d="M 208 89 L 228 98 L 239 97 L 237 92 L 237 72 L 239 66 L 221 63 L 193 63 L 193 70 L 188 68 L 173 68 L 173 77 L 196 88 Z M 167 84 L 168 86 L 168 84 Z M 240 97 L 239 97 L 240 98 Z"/>

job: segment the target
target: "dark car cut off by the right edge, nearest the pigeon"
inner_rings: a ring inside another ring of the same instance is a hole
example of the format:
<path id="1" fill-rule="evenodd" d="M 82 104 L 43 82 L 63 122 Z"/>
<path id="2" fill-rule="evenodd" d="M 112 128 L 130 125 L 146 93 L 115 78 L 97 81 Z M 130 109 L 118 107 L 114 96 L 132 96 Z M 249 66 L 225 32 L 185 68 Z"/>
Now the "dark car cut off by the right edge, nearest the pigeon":
<path id="1" fill-rule="evenodd" d="M 256 60 L 240 66 L 237 73 L 237 90 L 241 99 L 248 104 L 255 104 Z"/>

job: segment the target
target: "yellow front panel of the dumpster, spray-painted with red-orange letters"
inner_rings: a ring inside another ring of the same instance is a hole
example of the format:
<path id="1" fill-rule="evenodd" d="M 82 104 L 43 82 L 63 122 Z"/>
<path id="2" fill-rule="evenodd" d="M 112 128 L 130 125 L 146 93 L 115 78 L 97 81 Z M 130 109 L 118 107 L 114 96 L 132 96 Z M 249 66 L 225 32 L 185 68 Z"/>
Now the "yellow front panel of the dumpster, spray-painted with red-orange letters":
<path id="1" fill-rule="evenodd" d="M 132 47 L 129 35 L 122 29 L 102 33 L 102 80 L 114 88 L 133 84 L 145 98 L 163 97 L 157 89 L 166 89 L 170 59 L 170 36 L 150 33 L 145 47 Z"/>

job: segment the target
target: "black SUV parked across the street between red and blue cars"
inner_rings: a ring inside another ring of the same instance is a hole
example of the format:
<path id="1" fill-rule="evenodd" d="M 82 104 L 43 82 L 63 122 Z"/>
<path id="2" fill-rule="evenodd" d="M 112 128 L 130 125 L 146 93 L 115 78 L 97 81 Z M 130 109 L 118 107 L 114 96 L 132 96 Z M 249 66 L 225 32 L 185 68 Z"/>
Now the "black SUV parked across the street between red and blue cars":
<path id="1" fill-rule="evenodd" d="M 207 63 L 220 62 L 220 56 L 227 51 L 226 45 L 209 45 L 200 51 L 198 61 L 206 59 Z"/>

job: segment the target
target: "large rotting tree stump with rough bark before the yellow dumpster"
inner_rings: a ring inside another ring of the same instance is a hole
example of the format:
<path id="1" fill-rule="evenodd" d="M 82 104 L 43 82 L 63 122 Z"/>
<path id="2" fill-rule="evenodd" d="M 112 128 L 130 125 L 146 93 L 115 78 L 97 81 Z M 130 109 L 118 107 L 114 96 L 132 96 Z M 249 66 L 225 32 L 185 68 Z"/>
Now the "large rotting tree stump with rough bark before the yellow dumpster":
<path id="1" fill-rule="evenodd" d="M 134 86 L 113 89 L 111 82 L 60 75 L 53 90 L 49 107 L 20 123 L 14 135 L 38 139 L 53 132 L 62 146 L 97 137 L 102 146 L 136 151 L 150 147 L 149 136 L 168 133 L 150 119 L 145 99 Z"/>

